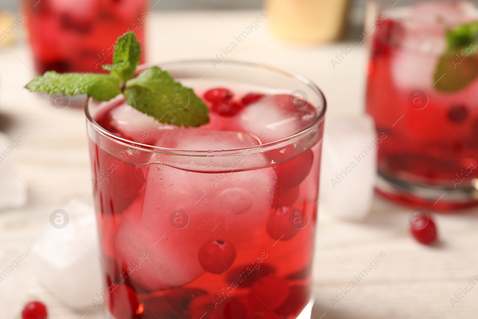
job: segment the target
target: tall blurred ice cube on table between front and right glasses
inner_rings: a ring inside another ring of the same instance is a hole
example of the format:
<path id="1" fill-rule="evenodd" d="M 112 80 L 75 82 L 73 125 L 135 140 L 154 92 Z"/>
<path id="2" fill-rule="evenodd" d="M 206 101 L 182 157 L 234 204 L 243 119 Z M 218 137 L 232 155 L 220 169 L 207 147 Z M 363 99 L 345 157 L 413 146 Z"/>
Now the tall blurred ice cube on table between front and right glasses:
<path id="1" fill-rule="evenodd" d="M 320 205 L 329 214 L 362 220 L 376 183 L 377 149 L 386 139 L 369 115 L 326 119 L 320 172 Z"/>

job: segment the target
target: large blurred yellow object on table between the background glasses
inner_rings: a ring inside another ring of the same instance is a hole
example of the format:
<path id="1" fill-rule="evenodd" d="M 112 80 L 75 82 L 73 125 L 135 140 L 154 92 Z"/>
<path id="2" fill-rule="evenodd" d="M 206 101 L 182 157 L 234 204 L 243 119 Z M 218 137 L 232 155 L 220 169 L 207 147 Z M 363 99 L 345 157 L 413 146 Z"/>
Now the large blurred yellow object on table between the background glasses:
<path id="1" fill-rule="evenodd" d="M 348 0 L 265 0 L 272 30 L 301 42 L 336 40 L 345 26 Z"/>

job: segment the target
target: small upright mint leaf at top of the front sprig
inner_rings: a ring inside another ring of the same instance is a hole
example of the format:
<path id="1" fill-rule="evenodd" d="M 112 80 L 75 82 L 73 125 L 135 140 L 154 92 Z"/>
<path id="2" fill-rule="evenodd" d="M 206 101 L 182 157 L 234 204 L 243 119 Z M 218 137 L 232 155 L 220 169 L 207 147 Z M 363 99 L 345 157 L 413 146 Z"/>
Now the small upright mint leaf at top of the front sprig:
<path id="1" fill-rule="evenodd" d="M 132 32 L 118 38 L 113 54 L 113 65 L 103 66 L 112 75 L 118 77 L 122 83 L 134 76 L 136 66 L 140 62 L 141 44 Z"/>

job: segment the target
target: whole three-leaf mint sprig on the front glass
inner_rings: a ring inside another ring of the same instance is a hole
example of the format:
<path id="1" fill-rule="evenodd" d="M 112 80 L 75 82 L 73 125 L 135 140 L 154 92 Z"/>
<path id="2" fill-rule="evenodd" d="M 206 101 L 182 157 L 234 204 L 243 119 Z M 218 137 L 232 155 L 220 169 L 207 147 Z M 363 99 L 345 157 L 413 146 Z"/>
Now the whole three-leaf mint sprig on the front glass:
<path id="1" fill-rule="evenodd" d="M 76 95 L 86 93 L 99 101 L 108 101 L 123 93 L 128 104 L 162 123 L 177 126 L 200 126 L 209 122 L 209 109 L 191 88 L 186 88 L 167 71 L 153 66 L 137 77 L 141 44 L 128 32 L 115 45 L 113 64 L 103 66 L 109 75 L 48 71 L 35 77 L 25 88 L 30 92 Z"/>

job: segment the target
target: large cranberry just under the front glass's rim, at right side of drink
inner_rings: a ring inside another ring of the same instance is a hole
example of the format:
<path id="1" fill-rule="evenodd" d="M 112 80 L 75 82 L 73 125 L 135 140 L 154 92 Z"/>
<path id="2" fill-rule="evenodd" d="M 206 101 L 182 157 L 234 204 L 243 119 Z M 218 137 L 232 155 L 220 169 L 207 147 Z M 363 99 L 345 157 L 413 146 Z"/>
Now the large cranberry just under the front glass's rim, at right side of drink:
<path id="1" fill-rule="evenodd" d="M 309 175 L 313 164 L 314 153 L 309 149 L 293 160 L 275 166 L 277 186 L 285 188 L 298 186 Z"/>

